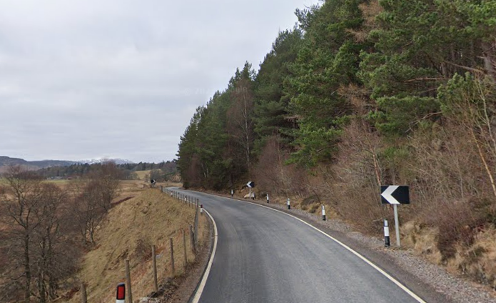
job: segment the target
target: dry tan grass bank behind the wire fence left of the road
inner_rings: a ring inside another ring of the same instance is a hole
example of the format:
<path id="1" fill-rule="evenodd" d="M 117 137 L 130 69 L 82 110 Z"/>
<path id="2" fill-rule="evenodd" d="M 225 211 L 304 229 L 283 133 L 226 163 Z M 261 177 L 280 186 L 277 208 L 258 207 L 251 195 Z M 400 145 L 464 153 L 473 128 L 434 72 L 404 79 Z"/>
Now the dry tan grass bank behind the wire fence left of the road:
<path id="1" fill-rule="evenodd" d="M 131 184 L 129 184 L 131 185 Z M 130 186 L 128 191 L 133 191 Z M 88 302 L 111 302 L 118 282 L 125 281 L 125 260 L 130 259 L 133 298 L 153 291 L 151 245 L 156 245 L 159 280 L 171 277 L 169 238 L 173 238 L 176 274 L 184 267 L 182 230 L 189 230 L 195 211 L 157 189 L 146 189 L 137 197 L 111 209 L 97 234 L 98 247 L 83 259 L 79 279 L 88 284 Z M 205 235 L 201 217 L 199 234 Z M 193 261 L 187 232 L 188 261 Z M 69 302 L 79 302 L 76 294 Z"/>

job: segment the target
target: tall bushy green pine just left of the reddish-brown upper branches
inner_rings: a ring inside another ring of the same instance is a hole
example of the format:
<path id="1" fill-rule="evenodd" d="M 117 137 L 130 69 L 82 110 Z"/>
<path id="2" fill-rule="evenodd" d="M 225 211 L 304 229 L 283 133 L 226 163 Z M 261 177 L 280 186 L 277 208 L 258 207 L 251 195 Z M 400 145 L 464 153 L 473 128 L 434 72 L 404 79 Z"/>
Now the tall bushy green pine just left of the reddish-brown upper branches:
<path id="1" fill-rule="evenodd" d="M 329 162 L 338 143 L 343 119 L 351 114 L 350 102 L 338 94 L 340 86 L 358 82 L 356 73 L 363 45 L 351 30 L 363 23 L 358 5 L 363 1 L 326 1 L 305 15 L 305 39 L 292 76 L 285 82 L 291 96 L 290 111 L 300 128 L 291 162 L 313 167 Z"/>

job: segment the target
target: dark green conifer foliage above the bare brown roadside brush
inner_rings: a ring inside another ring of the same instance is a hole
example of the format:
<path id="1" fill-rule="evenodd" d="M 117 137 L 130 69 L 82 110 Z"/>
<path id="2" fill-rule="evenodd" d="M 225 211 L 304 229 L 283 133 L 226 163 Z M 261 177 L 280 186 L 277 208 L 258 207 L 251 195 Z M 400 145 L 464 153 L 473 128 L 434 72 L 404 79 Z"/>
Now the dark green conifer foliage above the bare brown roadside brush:
<path id="1" fill-rule="evenodd" d="M 442 121 L 450 91 L 471 89 L 453 88 L 455 75 L 494 81 L 495 0 L 328 0 L 296 15 L 299 26 L 279 33 L 258 74 L 246 64 L 198 109 L 179 146 L 186 184 L 241 184 L 269 138 L 288 163 L 333 163 L 343 129 L 364 118 L 388 141 L 379 156 L 393 171 L 394 142 Z"/>

